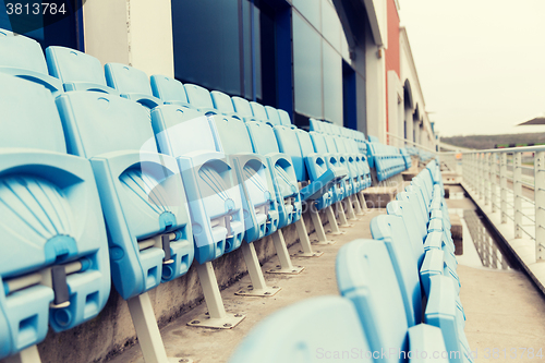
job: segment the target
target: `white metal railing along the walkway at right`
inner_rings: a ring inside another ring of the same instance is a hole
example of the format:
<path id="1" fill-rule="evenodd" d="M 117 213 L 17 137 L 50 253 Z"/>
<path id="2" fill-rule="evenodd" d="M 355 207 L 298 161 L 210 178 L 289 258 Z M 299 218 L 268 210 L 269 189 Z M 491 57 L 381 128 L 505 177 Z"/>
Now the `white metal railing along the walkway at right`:
<path id="1" fill-rule="evenodd" d="M 513 222 L 516 239 L 535 242 L 536 262 L 545 261 L 545 146 L 441 153 L 447 162 L 462 155 L 464 184 L 475 192 L 501 223 Z M 450 164 L 447 162 L 447 164 Z"/>

